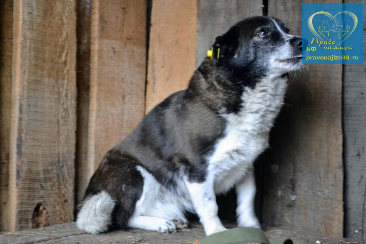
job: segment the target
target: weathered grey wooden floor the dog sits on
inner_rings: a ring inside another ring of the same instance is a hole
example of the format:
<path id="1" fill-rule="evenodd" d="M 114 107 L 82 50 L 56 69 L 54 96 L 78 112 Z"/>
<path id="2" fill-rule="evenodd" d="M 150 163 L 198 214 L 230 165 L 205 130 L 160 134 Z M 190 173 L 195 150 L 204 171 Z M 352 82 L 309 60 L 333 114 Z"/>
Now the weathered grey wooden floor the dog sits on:
<path id="1" fill-rule="evenodd" d="M 234 223 L 224 222 L 228 229 L 234 228 Z M 289 229 L 266 229 L 269 241 L 290 238 L 294 244 L 314 244 L 316 241 L 322 244 L 347 244 L 343 238 L 309 233 L 305 231 L 291 231 Z M 24 230 L 16 233 L 0 234 L 1 244 L 179 244 L 193 243 L 205 237 L 202 225 L 198 222 L 190 224 L 190 228 L 179 230 L 178 233 L 158 233 L 141 229 L 118 230 L 98 235 L 87 234 L 78 230 L 74 223 L 49 226 L 42 229 Z M 358 243 L 352 243 L 358 244 Z M 359 243 L 362 244 L 362 243 Z"/>

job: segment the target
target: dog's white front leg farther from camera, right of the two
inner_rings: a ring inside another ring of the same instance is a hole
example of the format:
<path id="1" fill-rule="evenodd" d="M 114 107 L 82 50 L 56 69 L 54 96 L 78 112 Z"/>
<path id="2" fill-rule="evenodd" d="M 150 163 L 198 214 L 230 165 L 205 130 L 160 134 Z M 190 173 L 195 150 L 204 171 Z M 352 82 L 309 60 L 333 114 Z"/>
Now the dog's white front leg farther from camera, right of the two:
<path id="1" fill-rule="evenodd" d="M 261 225 L 254 212 L 255 197 L 255 179 L 254 173 L 248 172 L 246 176 L 235 187 L 238 195 L 238 207 L 236 215 L 238 216 L 239 227 L 255 227 L 260 228 Z"/>

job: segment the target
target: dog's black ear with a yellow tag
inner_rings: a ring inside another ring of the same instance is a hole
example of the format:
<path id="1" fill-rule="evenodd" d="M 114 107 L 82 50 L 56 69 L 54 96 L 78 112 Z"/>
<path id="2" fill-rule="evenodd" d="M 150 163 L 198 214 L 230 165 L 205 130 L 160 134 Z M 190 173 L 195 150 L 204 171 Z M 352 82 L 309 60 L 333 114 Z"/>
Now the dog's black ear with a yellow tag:
<path id="1" fill-rule="evenodd" d="M 213 60 L 215 63 L 220 63 L 221 61 L 234 57 L 235 50 L 238 47 L 238 38 L 238 32 L 234 28 L 231 28 L 225 34 L 216 37 L 215 43 L 213 44 Z M 218 52 L 220 52 L 219 59 L 217 59 Z"/>

